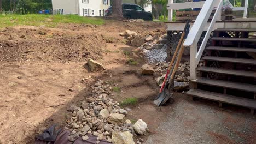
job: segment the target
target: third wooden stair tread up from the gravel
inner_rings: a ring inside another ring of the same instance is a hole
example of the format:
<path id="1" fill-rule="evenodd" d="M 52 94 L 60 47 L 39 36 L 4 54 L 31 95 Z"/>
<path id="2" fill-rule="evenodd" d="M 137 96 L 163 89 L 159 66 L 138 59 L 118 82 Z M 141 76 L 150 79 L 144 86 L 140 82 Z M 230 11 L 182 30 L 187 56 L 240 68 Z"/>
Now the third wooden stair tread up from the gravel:
<path id="1" fill-rule="evenodd" d="M 256 78 L 256 72 L 254 72 L 254 71 L 232 70 L 232 69 L 212 68 L 212 67 L 198 67 L 197 70 L 208 71 L 208 72 L 212 72 L 212 73 L 221 73 L 221 74 L 229 74 L 229 75 Z"/>

